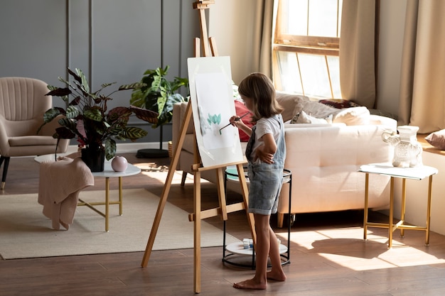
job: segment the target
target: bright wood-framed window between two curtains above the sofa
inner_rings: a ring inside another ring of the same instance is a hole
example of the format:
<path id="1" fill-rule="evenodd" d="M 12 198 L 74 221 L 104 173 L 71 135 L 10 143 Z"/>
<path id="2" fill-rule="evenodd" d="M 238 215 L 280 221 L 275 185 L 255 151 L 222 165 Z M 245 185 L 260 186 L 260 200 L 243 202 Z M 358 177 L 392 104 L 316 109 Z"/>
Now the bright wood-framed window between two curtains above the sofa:
<path id="1" fill-rule="evenodd" d="M 342 0 L 279 0 L 274 83 L 284 92 L 341 98 L 338 49 Z"/>

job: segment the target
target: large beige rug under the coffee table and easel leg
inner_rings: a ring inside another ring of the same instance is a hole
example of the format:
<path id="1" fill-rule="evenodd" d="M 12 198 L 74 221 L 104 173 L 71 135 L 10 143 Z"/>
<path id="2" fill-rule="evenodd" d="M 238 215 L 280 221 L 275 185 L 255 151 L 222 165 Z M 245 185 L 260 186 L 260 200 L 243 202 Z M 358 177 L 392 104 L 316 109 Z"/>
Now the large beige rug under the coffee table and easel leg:
<path id="1" fill-rule="evenodd" d="M 110 199 L 117 199 L 117 190 Z M 77 207 L 68 231 L 53 230 L 42 214 L 37 194 L 0 195 L 0 255 L 4 259 L 145 251 L 159 197 L 144 189 L 124 190 L 123 215 L 110 205 L 109 232 L 105 219 L 87 207 Z M 104 200 L 104 191 L 82 191 L 86 201 Z M 223 246 L 223 231 L 202 221 L 201 246 Z M 227 243 L 239 241 L 227 234 Z M 193 222 L 188 213 L 167 202 L 153 251 L 193 248 Z"/>

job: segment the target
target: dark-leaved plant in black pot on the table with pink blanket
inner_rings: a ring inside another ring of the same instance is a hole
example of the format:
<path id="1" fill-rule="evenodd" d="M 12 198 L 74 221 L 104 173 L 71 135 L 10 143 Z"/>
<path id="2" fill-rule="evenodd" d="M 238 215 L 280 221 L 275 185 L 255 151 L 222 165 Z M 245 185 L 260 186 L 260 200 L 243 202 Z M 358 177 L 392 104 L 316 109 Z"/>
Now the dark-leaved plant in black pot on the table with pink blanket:
<path id="1" fill-rule="evenodd" d="M 116 154 L 116 141 L 136 141 L 146 136 L 147 132 L 141 128 L 127 126 L 129 116 L 132 115 L 131 107 L 119 106 L 108 110 L 107 103 L 112 100 L 111 95 L 124 89 L 142 87 L 141 83 L 122 85 L 110 94 L 102 94 L 102 90 L 113 83 L 102 84 L 96 92 L 90 91 L 87 78 L 80 69 L 75 72 L 68 69 L 73 77 L 73 82 L 58 77 L 58 80 L 66 84 L 66 87 L 53 87 L 48 85 L 48 96 L 60 97 L 65 102 L 65 107 L 53 107 L 45 112 L 43 125 L 53 121 L 62 114 L 59 119 L 59 128 L 56 128 L 54 138 L 77 138 L 82 149 L 82 160 L 87 163 L 92 171 L 102 171 L 104 158 L 110 160 Z M 43 126 L 42 125 L 42 126 Z M 100 154 L 100 160 L 90 160 L 90 153 Z"/>

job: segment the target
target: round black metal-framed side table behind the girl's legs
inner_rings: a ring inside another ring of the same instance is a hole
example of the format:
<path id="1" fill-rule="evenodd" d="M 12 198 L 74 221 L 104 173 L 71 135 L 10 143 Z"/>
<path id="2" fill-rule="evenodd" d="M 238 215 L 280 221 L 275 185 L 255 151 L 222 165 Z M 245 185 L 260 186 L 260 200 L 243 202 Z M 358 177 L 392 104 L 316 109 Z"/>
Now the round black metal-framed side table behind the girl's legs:
<path id="1" fill-rule="evenodd" d="M 246 172 L 247 173 L 247 172 Z M 225 170 L 225 178 L 224 178 L 224 187 L 227 188 L 227 177 L 235 177 L 237 178 L 237 171 L 230 172 Z M 280 253 L 280 256 L 282 257 L 282 265 L 291 263 L 291 248 L 290 248 L 290 242 L 291 242 L 291 195 L 292 195 L 292 172 L 290 170 L 283 170 L 283 184 L 289 183 L 289 219 L 287 221 L 287 251 L 285 253 Z M 242 262 L 235 262 L 236 259 L 240 261 L 240 258 L 246 257 L 245 254 L 240 255 L 240 253 L 233 253 L 229 252 L 226 253 L 227 246 L 225 244 L 225 236 L 226 236 L 226 221 L 224 221 L 224 233 L 223 233 L 223 262 L 228 263 L 230 265 L 235 265 L 239 267 L 247 267 L 255 269 L 255 250 L 254 248 L 250 248 L 250 251 L 252 252 L 252 262 L 251 263 L 242 263 Z M 250 253 L 250 252 L 249 252 Z M 234 260 L 235 259 L 235 260 Z M 270 266 L 269 266 L 270 267 Z"/>

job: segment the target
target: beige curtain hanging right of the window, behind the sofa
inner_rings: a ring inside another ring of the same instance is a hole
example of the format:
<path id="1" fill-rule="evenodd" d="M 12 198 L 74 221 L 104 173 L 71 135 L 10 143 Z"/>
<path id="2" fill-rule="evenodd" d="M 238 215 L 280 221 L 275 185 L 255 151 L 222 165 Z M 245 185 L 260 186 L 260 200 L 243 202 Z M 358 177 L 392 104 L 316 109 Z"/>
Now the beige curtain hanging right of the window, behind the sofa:
<path id="1" fill-rule="evenodd" d="M 343 0 L 340 84 L 343 99 L 375 107 L 375 2 Z"/>

